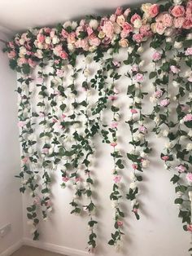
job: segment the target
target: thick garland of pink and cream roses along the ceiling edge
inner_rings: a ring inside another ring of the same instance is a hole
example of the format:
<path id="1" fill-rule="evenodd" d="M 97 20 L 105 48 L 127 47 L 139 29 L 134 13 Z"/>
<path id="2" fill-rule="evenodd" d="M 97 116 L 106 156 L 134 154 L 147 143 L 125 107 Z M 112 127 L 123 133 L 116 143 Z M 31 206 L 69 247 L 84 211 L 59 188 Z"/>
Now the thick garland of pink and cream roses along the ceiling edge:
<path id="1" fill-rule="evenodd" d="M 7 43 L 7 54 L 11 60 L 17 61 L 22 68 L 28 64 L 34 68 L 45 55 L 55 55 L 55 64 L 68 60 L 69 53 L 80 51 L 96 51 L 98 46 L 104 48 L 119 43 L 120 47 L 129 46 L 129 39 L 141 43 L 153 33 L 163 34 L 167 29 L 175 33 L 175 29 L 192 28 L 192 0 L 186 6 L 176 5 L 168 11 L 159 13 L 158 4 L 143 4 L 142 15 L 118 7 L 111 16 L 101 20 L 81 20 L 75 25 L 71 22 L 63 24 L 62 29 L 33 29 L 22 35 L 16 35 Z M 185 51 L 191 55 L 191 48 Z M 159 60 L 160 53 L 153 55 Z M 139 77 L 138 77 L 139 78 Z M 140 79 L 140 78 L 139 78 Z"/>

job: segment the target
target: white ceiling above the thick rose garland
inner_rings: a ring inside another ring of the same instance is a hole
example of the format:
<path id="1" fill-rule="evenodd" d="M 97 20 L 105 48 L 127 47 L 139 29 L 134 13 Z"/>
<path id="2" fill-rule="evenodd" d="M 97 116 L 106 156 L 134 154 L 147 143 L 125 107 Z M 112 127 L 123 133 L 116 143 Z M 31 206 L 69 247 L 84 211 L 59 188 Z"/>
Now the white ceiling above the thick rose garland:
<path id="1" fill-rule="evenodd" d="M 85 15 L 106 15 L 116 7 L 133 7 L 146 0 L 0 0 L 0 27 L 11 34 L 35 26 L 76 20 Z"/>

